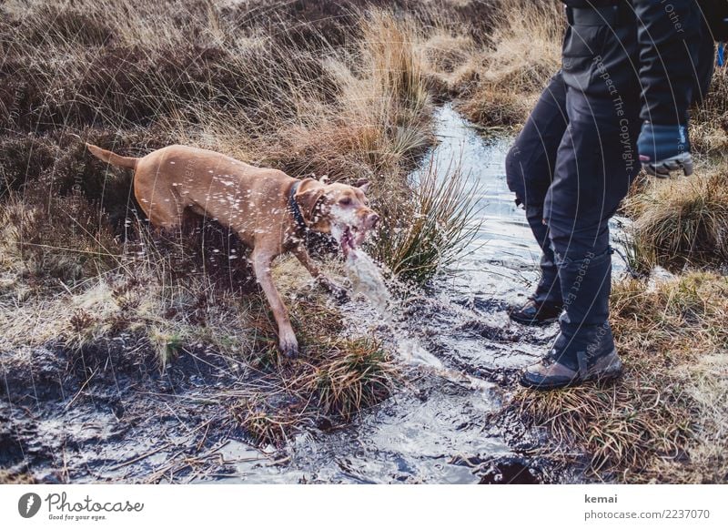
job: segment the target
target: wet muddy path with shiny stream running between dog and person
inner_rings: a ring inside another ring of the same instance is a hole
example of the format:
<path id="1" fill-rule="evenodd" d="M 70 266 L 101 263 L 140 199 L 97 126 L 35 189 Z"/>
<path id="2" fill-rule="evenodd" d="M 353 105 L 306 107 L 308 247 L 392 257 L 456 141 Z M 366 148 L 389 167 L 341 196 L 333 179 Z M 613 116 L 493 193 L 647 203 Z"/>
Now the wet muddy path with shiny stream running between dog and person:
<path id="1" fill-rule="evenodd" d="M 503 173 L 509 139 L 486 140 L 451 107 L 423 167 L 453 160 L 476 184 L 482 224 L 457 273 L 406 307 L 407 333 L 450 371 L 412 367 L 385 402 L 344 426 L 310 424 L 279 449 L 255 448 L 231 418 L 265 373 L 200 345 L 164 373 L 133 334 L 70 354 L 52 345 L 0 352 L 0 468 L 49 483 L 563 483 L 568 469 L 528 456 L 541 441 L 501 414 L 521 368 L 555 326 L 512 324 L 507 308 L 537 280 L 538 248 Z M 615 256 L 615 268 L 622 266 Z M 366 300 L 344 307 L 349 329 L 371 330 Z M 134 358 L 134 361 L 130 361 Z"/>

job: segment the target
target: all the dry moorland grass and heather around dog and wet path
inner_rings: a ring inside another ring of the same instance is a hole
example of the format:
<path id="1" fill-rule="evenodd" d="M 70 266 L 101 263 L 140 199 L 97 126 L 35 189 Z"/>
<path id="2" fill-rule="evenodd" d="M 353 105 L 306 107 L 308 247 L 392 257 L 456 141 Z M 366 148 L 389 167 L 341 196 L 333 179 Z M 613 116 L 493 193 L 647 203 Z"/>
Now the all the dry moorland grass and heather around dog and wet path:
<path id="1" fill-rule="evenodd" d="M 7 0 L 2 369 L 36 347 L 63 351 L 83 360 L 78 397 L 108 369 L 86 361 L 116 343 L 133 343 L 126 356 L 151 356 L 158 372 L 210 351 L 227 371 L 256 377 L 248 384 L 256 392 L 208 397 L 224 401 L 260 445 L 280 446 L 307 424 L 346 421 L 380 402 L 402 374 L 387 341 L 352 335 L 297 262 L 283 259 L 276 280 L 304 355 L 282 362 L 238 239 L 208 219 L 188 233 L 153 235 L 131 175 L 84 144 L 143 156 L 183 143 L 299 178 L 368 178 L 383 219 L 370 253 L 421 286 L 457 255 L 470 214 L 464 180 L 408 178 L 434 142 L 434 105 L 451 99 L 476 124 L 516 132 L 559 68 L 562 30 L 561 5 L 545 1 Z M 641 181 L 625 205 L 632 268 L 642 272 L 612 296 L 625 377 L 511 399 L 550 432 L 552 457 L 586 453 L 593 479 L 728 476 L 726 72 L 716 71 L 693 110 L 696 176 Z M 343 281 L 327 241 L 309 242 Z M 650 279 L 656 265 L 677 275 Z M 70 369 L 53 376 L 71 377 Z M 0 383 L 11 400 L 13 391 Z M 0 444 L 9 435 L 0 429 Z M 0 468 L 0 483 L 30 473 Z"/>

